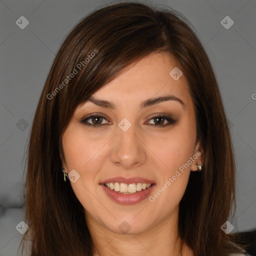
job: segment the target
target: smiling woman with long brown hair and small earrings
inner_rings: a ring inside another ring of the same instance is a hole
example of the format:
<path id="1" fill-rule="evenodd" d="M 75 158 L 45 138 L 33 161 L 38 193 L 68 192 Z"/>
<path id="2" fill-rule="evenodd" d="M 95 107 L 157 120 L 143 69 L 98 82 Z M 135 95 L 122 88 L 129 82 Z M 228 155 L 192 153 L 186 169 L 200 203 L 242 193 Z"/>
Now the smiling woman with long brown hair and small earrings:
<path id="1" fill-rule="evenodd" d="M 243 253 L 220 92 L 182 19 L 113 4 L 62 43 L 30 134 L 29 255 Z"/>

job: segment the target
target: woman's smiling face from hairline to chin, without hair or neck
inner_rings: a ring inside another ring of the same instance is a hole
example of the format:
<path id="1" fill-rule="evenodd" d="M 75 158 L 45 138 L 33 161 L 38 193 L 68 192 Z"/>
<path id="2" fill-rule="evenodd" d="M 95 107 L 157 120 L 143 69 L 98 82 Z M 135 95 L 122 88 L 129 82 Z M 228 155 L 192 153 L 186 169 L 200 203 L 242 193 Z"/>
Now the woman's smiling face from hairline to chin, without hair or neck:
<path id="1" fill-rule="evenodd" d="M 75 109 L 62 137 L 63 167 L 72 170 L 70 184 L 88 225 L 135 234 L 177 223 L 179 201 L 190 171 L 202 164 L 202 150 L 188 82 L 176 67 L 167 53 L 150 54 L 92 95 L 113 108 L 86 101 Z M 142 106 L 167 96 L 173 99 Z M 91 114 L 97 116 L 87 118 Z M 144 189 L 143 183 L 152 186 Z"/>

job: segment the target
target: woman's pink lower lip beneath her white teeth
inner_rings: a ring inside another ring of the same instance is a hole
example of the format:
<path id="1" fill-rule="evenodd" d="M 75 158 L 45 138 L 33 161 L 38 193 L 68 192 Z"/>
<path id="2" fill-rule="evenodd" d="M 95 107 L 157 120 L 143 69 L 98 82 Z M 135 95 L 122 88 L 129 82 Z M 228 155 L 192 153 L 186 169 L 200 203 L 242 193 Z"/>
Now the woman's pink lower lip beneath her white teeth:
<path id="1" fill-rule="evenodd" d="M 150 187 L 146 189 L 142 189 L 141 191 L 137 191 L 134 194 L 121 194 L 118 193 L 108 187 L 106 187 L 104 184 L 100 184 L 101 187 L 104 189 L 106 194 L 115 202 L 118 202 L 120 204 L 135 204 L 142 200 L 144 200 L 146 197 L 149 196 L 151 193 L 153 187 L 155 184 L 152 184 Z"/>

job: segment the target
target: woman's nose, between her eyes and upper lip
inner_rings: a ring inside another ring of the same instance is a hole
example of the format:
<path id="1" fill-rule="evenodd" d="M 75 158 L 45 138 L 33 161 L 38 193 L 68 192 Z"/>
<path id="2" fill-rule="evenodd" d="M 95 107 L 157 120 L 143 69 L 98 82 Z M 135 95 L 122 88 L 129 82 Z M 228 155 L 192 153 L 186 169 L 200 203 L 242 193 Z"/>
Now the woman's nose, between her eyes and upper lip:
<path id="1" fill-rule="evenodd" d="M 112 143 L 111 161 L 123 169 L 134 169 L 146 160 L 146 145 L 142 135 L 138 134 L 135 125 L 125 129 L 116 127 L 117 134 Z"/>

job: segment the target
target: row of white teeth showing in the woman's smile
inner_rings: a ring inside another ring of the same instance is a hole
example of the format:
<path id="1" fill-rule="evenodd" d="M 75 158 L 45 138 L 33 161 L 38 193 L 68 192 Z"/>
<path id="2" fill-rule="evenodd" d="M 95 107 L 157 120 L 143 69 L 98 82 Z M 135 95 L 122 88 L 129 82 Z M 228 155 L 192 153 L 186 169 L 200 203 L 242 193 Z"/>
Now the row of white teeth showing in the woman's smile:
<path id="1" fill-rule="evenodd" d="M 119 193 L 135 193 L 136 191 L 141 191 L 142 189 L 149 188 L 151 184 L 149 183 L 119 183 L 119 182 L 110 182 L 110 183 L 104 183 L 108 188 L 119 192 Z"/>

